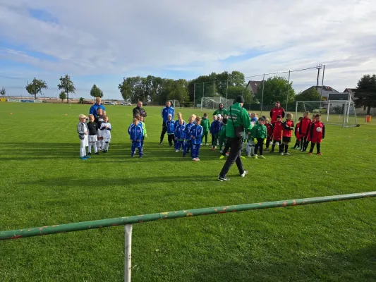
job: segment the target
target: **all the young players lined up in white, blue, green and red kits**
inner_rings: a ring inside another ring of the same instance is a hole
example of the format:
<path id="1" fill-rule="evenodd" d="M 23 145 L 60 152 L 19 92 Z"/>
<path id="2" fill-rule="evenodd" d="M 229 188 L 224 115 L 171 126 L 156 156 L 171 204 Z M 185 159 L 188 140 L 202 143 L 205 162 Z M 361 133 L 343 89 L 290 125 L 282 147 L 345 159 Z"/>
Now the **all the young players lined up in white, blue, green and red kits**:
<path id="1" fill-rule="evenodd" d="M 250 114 L 251 126 L 245 130 L 243 135 L 247 156 L 265 159 L 263 156 L 264 145 L 266 151 L 269 151 L 270 145 L 272 146 L 271 153 L 278 145 L 279 154 L 289 156 L 289 144 L 293 131 L 296 136 L 296 143 L 291 149 L 300 149 L 301 152 L 305 152 L 311 142 L 309 154 L 313 153 L 316 146 L 317 154 L 321 155 L 320 145 L 325 137 L 325 125 L 321 122 L 320 114 L 313 115 L 312 119 L 309 118 L 309 115 L 310 113 L 305 111 L 303 117 L 300 117 L 298 123 L 294 126 L 292 114 L 286 114 L 286 121 L 281 121 L 281 116 L 277 116 L 276 121 L 272 123 L 265 116 L 257 118 L 256 114 Z M 96 115 L 90 114 L 88 118 L 84 114 L 80 114 L 79 120 L 80 159 L 89 159 L 92 148 L 94 154 L 99 154 L 100 150 L 107 153 L 111 142 L 112 128 L 109 117 L 104 111 L 99 108 Z M 215 150 L 219 146 L 220 159 L 223 159 L 229 155 L 229 144 L 226 142 L 226 124 L 227 118 L 221 114 L 214 115 L 211 123 L 207 114 L 204 114 L 203 118 L 193 114 L 188 118 L 188 123 L 183 120 L 181 113 L 178 113 L 176 121 L 172 119 L 170 114 L 166 121 L 169 145 L 170 147 L 174 145 L 175 152 L 182 151 L 183 157 L 190 153 L 193 161 L 200 161 L 201 143 L 205 140 L 204 144 L 209 146 L 207 137 L 210 134 L 212 136 L 212 149 Z M 144 140 L 147 137 L 143 116 L 139 114 L 134 116 L 133 123 L 128 127 L 128 134 L 132 143 L 131 157 L 134 157 L 136 149 L 138 149 L 139 157 L 142 158 L 144 155 L 142 152 Z M 86 147 L 88 147 L 87 154 Z"/>

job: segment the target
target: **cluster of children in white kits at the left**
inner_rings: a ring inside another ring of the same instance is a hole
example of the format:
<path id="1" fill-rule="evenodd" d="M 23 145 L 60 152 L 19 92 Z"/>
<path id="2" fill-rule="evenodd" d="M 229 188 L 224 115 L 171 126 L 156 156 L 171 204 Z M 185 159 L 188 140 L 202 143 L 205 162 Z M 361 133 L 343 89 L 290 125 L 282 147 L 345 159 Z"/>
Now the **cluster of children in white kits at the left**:
<path id="1" fill-rule="evenodd" d="M 100 150 L 107 153 L 111 142 L 112 128 L 106 113 L 99 108 L 96 115 L 90 114 L 87 117 L 80 114 L 78 119 L 80 121 L 77 128 L 78 138 L 80 139 L 80 159 L 90 159 L 92 148 L 94 154 L 99 154 Z M 88 147 L 87 154 L 86 147 Z"/>

